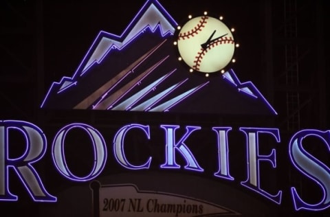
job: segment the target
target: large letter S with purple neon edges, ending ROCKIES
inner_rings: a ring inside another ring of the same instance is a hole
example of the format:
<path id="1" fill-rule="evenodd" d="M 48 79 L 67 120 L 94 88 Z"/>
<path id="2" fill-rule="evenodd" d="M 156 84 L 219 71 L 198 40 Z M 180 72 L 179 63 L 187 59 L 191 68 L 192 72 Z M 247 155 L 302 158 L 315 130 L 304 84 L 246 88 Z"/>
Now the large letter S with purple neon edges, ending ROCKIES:
<path id="1" fill-rule="evenodd" d="M 330 150 L 330 130 L 300 130 L 289 142 L 289 156 L 293 165 L 309 179 L 315 181 L 322 189 L 322 200 L 320 203 L 310 204 L 303 201 L 298 195 L 295 187 L 291 188 L 294 208 L 308 210 L 322 210 L 330 206 L 330 169 L 309 154 L 303 147 L 305 137 L 318 137 Z"/>

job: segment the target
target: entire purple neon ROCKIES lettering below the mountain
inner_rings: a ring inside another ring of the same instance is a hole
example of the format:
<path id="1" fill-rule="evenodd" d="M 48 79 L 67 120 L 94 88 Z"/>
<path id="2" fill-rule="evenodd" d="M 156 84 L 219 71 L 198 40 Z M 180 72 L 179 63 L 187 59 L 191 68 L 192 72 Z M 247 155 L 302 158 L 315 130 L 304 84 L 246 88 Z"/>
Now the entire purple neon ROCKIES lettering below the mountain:
<path id="1" fill-rule="evenodd" d="M 184 126 L 184 135 L 177 136 L 177 130 L 183 128 L 179 125 L 161 124 L 159 126 L 164 132 L 164 153 L 165 161 L 159 168 L 162 170 L 191 170 L 195 172 L 204 172 L 204 169 L 198 163 L 198 158 L 190 150 L 186 141 L 195 131 L 201 130 L 201 126 Z M 88 135 L 91 147 L 94 150 L 93 165 L 88 174 L 78 176 L 74 174 L 67 164 L 68 155 L 65 153 L 65 138 L 74 129 L 82 130 L 81 133 Z M 16 130 L 25 138 L 25 152 L 21 157 L 12 158 L 9 155 L 13 145 L 11 142 L 10 132 Z M 152 132 L 148 125 L 128 124 L 122 126 L 113 136 L 113 155 L 115 161 L 127 170 L 148 170 L 153 163 L 153 156 L 144 159 L 143 163 L 134 164 L 126 156 L 125 137 L 131 130 L 138 130 L 140 136 L 144 139 L 151 139 Z M 228 133 L 231 127 L 214 126 L 212 131 L 217 135 L 214 140 L 214 146 L 217 148 L 217 171 L 213 176 L 217 179 L 226 179 L 234 181 L 234 177 L 230 175 L 229 161 L 229 141 Z M 277 190 L 276 193 L 267 192 L 261 186 L 260 179 L 263 173 L 259 169 L 261 164 L 270 163 L 272 170 L 276 170 L 276 149 L 268 150 L 267 154 L 261 155 L 259 150 L 265 144 L 259 142 L 261 135 L 266 135 L 274 140 L 277 144 L 281 142 L 281 135 L 278 128 L 248 128 L 241 127 L 239 131 L 245 137 L 245 147 L 247 154 L 246 162 L 246 180 L 241 181 L 243 187 L 247 187 L 261 196 L 281 204 L 283 191 Z M 291 187 L 290 194 L 294 202 L 294 209 L 319 211 L 330 207 L 330 168 L 322 163 L 319 159 L 311 155 L 304 147 L 303 140 L 306 138 L 318 139 L 328 150 L 330 150 L 330 130 L 300 130 L 294 134 L 288 144 L 289 158 L 292 165 L 307 178 L 314 181 L 322 190 L 322 196 L 318 203 L 307 203 L 307 198 L 303 198 L 296 190 Z M 87 182 L 96 179 L 104 170 L 107 163 L 107 144 L 103 135 L 94 127 L 88 124 L 67 124 L 57 131 L 52 140 L 51 155 L 52 162 L 59 174 L 65 179 L 73 182 Z M 3 120 L 0 121 L 0 201 L 18 201 L 19 196 L 10 192 L 9 176 L 12 176 L 10 170 L 19 177 L 19 180 L 36 202 L 56 202 L 56 196 L 53 196 L 45 189 L 43 180 L 39 176 L 39 171 L 34 167 L 34 163 L 41 161 L 47 151 L 47 138 L 43 130 L 30 122 L 19 120 Z M 177 163 L 176 157 L 179 156 L 186 161 L 186 165 L 182 166 Z"/>

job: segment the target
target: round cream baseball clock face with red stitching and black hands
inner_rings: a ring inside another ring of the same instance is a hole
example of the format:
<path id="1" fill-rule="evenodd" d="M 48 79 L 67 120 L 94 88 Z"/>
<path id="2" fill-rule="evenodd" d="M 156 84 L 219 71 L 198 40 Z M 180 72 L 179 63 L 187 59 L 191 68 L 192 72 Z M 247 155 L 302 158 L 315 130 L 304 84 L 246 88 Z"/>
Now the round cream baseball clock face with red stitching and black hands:
<path id="1" fill-rule="evenodd" d="M 234 56 L 234 37 L 220 19 L 197 16 L 179 30 L 177 48 L 181 59 L 195 71 L 221 71 Z"/>

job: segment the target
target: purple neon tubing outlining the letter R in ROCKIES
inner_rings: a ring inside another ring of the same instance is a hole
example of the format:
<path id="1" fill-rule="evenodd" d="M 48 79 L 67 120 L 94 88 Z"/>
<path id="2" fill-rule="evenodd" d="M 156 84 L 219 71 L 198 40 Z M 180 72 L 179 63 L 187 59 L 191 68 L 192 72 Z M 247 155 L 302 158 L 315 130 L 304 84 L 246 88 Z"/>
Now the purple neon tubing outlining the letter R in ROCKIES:
<path id="1" fill-rule="evenodd" d="M 19 126 L 28 126 L 34 130 L 36 130 L 37 133 L 39 133 L 39 135 L 41 135 L 41 139 L 43 139 L 43 150 L 41 150 L 41 152 L 39 153 L 39 157 L 35 158 L 33 161 L 29 161 L 28 163 L 26 163 L 25 166 L 28 166 L 28 169 L 32 172 L 32 174 L 34 175 L 34 178 L 36 179 L 41 191 L 43 192 L 43 194 L 45 194 L 45 196 L 34 196 L 32 194 L 32 190 L 30 190 L 30 187 L 28 187 L 26 184 L 25 184 L 25 181 L 23 181 L 22 177 L 21 177 L 21 174 L 20 172 L 17 171 L 16 167 L 14 165 L 5 165 L 5 170 L 6 170 L 6 174 L 7 174 L 7 177 L 5 177 L 5 180 L 6 180 L 6 184 L 5 185 L 5 190 L 6 192 L 8 192 L 8 194 L 10 194 L 9 196 L 12 196 L 12 198 L 14 198 L 13 200 L 12 199 L 3 199 L 1 198 L 0 196 L 0 201 L 18 201 L 18 198 L 19 196 L 17 195 L 14 195 L 10 192 L 9 190 L 9 176 L 8 176 L 8 173 L 9 173 L 9 168 L 12 168 L 14 170 L 14 172 L 16 172 L 17 176 L 19 177 L 19 179 L 21 180 L 21 183 L 23 183 L 23 186 L 25 187 L 25 190 L 28 191 L 28 193 L 30 194 L 32 200 L 34 202 L 50 202 L 50 203 L 56 203 L 57 201 L 57 197 L 56 196 L 52 196 L 50 193 L 47 192 L 47 190 L 45 189 L 45 185 L 43 185 L 42 181 L 41 181 L 41 177 L 39 176 L 38 172 L 36 172 L 36 170 L 34 169 L 34 167 L 32 166 L 32 163 L 36 163 L 38 162 L 40 159 L 43 158 L 43 156 L 45 155 L 45 152 L 47 150 L 47 139 L 46 139 L 46 136 L 45 136 L 45 133 L 43 133 L 43 130 L 41 130 L 41 128 L 39 128 L 38 126 L 36 126 L 35 124 L 32 124 L 30 122 L 25 122 L 25 121 L 21 121 L 21 120 L 0 120 L 0 123 L 3 123 L 3 126 L 5 127 L 5 144 L 4 144 L 4 148 L 5 148 L 5 160 L 8 160 L 8 161 L 20 161 L 21 159 L 27 157 L 26 154 L 28 153 L 28 146 L 31 145 L 30 144 L 30 140 L 28 139 L 27 137 L 27 133 L 25 132 L 25 130 L 21 129 Z M 14 126 L 6 126 L 8 124 L 14 124 Z M 2 124 L 1 124 L 2 125 Z M 23 155 L 17 159 L 8 159 L 9 157 L 9 153 L 8 153 L 8 133 L 9 133 L 9 129 L 10 128 L 13 128 L 15 130 L 19 130 L 23 133 L 23 136 L 24 136 L 24 139 L 25 139 L 25 142 L 26 142 L 26 149 L 25 149 L 25 152 L 23 153 Z"/>

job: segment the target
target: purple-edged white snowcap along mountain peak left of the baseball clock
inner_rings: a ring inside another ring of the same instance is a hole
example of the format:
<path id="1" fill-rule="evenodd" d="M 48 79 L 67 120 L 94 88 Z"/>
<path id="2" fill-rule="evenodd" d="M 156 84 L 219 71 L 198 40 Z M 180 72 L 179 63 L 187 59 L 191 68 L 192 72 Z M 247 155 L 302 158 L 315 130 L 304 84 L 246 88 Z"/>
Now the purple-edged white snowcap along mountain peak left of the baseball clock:
<path id="1" fill-rule="evenodd" d="M 153 19 L 148 19 L 148 16 L 152 16 Z M 155 19 L 155 17 L 158 19 Z M 133 42 L 137 36 L 140 36 L 140 34 L 147 29 L 152 32 L 159 29 L 161 30 L 162 37 L 165 37 L 173 35 L 175 27 L 177 27 L 177 23 L 157 0 L 147 0 L 120 36 L 104 31 L 98 33 L 98 36 L 96 36 L 96 39 L 91 44 L 91 47 L 80 62 L 80 65 L 78 65 L 72 78 L 65 77 L 60 82 L 53 82 L 41 104 L 41 108 L 45 105 L 54 86 L 63 84 L 63 80 L 76 82 L 78 75 L 83 76 L 83 74 L 88 71 L 94 63 L 100 63 L 111 49 L 124 49 L 124 47 Z M 60 91 L 57 92 L 61 91 L 64 91 L 64 89 L 60 89 Z"/>

